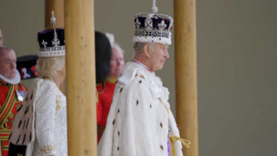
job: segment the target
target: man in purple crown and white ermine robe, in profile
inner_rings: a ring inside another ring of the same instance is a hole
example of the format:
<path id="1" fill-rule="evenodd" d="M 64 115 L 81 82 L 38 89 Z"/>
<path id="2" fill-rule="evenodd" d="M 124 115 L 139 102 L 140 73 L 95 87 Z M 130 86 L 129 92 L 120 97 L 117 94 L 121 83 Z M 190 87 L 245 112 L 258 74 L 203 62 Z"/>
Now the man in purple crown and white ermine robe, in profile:
<path id="1" fill-rule="evenodd" d="M 169 57 L 173 19 L 158 14 L 156 1 L 151 13 L 134 17 L 135 57 L 121 72 L 107 126 L 98 145 L 98 155 L 183 155 L 182 144 L 168 103 L 169 91 L 155 71 Z"/>

